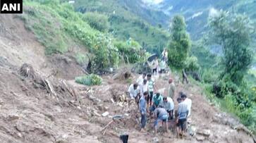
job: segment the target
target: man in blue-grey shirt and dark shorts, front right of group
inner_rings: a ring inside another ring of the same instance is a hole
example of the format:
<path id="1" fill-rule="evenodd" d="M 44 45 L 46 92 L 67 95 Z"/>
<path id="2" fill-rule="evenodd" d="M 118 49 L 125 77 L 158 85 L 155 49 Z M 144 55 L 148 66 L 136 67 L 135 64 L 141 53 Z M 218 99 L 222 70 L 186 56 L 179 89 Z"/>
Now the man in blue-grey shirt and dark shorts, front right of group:
<path id="1" fill-rule="evenodd" d="M 184 137 L 184 132 L 185 132 L 185 124 L 187 121 L 187 115 L 188 115 L 188 106 L 187 104 L 184 103 L 182 98 L 178 98 L 178 111 L 177 111 L 177 134 L 178 137 L 181 133 L 182 138 Z"/>

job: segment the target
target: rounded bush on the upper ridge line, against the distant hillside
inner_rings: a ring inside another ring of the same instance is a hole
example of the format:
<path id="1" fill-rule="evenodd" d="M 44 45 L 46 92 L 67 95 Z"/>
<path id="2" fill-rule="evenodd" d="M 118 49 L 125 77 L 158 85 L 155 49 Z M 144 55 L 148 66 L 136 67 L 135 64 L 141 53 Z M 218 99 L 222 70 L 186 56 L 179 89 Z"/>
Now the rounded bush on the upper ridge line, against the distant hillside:
<path id="1" fill-rule="evenodd" d="M 107 32 L 109 30 L 108 17 L 99 13 L 87 12 L 83 15 L 83 20 L 87 22 L 90 27 L 95 28 L 101 32 Z"/>

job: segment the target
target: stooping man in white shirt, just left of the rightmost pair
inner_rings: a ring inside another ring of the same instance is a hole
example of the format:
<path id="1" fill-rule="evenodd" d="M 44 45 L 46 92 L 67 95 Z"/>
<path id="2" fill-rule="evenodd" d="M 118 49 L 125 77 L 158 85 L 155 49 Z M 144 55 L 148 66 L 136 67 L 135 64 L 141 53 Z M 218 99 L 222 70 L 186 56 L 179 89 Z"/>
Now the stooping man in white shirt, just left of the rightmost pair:
<path id="1" fill-rule="evenodd" d="M 171 99 L 170 97 L 164 97 L 160 105 L 163 106 L 167 113 L 169 114 L 169 120 L 172 120 L 174 109 L 173 99 Z"/>

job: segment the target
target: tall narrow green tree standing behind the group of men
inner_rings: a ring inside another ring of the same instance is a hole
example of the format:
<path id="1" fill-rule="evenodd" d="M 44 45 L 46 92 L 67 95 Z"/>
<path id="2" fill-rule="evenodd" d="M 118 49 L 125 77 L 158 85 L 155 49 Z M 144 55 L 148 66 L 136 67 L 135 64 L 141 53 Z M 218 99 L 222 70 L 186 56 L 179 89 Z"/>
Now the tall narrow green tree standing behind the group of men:
<path id="1" fill-rule="evenodd" d="M 169 66 L 182 69 L 188 57 L 191 46 L 190 37 L 185 30 L 185 20 L 182 15 L 174 16 L 171 22 L 171 41 L 168 46 Z"/>

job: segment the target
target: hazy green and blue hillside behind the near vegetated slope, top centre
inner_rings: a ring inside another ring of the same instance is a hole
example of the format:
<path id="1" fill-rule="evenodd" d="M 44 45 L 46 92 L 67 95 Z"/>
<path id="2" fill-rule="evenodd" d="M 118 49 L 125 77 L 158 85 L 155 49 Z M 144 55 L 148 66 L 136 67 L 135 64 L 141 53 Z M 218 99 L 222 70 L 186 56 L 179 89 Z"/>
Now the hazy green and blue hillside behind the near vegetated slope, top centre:
<path id="1" fill-rule="evenodd" d="M 168 16 L 148 8 L 142 1 L 77 0 L 74 6 L 81 13 L 96 11 L 108 15 L 114 37 L 122 40 L 131 37 L 152 53 L 159 54 L 168 41 L 168 33 L 163 28 Z"/>

